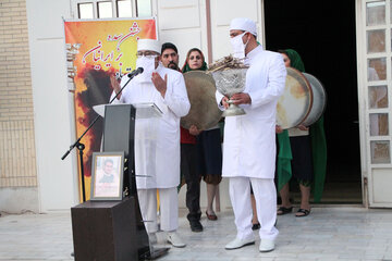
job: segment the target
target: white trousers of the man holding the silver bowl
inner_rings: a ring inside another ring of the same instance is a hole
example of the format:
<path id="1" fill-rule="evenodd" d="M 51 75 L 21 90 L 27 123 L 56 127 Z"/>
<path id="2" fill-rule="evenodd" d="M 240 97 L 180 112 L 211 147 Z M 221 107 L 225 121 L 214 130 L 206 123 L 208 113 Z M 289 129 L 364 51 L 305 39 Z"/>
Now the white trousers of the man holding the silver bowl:
<path id="1" fill-rule="evenodd" d="M 250 183 L 256 199 L 257 217 L 261 239 L 274 240 L 279 232 L 277 220 L 277 189 L 272 178 L 230 177 L 230 199 L 234 210 L 237 238 L 253 238 Z"/>

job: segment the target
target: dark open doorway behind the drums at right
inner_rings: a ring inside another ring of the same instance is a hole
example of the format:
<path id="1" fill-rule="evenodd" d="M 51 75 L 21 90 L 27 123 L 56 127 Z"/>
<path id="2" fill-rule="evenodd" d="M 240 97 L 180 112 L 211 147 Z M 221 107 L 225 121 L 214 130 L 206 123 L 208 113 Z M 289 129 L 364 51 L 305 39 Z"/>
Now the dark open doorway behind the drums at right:
<path id="1" fill-rule="evenodd" d="M 265 0 L 265 28 L 266 49 L 296 50 L 328 95 L 321 203 L 362 203 L 355 1 Z"/>

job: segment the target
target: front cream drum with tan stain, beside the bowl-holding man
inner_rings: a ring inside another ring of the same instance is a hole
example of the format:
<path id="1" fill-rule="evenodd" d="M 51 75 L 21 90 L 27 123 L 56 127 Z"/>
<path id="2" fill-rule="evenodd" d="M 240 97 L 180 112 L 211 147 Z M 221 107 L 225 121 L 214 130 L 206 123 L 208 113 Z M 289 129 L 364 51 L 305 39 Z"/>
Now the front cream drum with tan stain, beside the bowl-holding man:
<path id="1" fill-rule="evenodd" d="M 311 86 L 297 70 L 287 67 L 283 95 L 278 100 L 277 124 L 283 129 L 298 126 L 310 113 Z"/>

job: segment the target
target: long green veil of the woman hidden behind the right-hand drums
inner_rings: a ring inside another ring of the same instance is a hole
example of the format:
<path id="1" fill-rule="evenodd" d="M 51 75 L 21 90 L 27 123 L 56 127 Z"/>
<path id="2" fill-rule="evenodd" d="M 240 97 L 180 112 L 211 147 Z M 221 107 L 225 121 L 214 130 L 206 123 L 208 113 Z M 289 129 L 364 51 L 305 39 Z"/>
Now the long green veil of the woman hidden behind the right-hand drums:
<path id="1" fill-rule="evenodd" d="M 290 65 L 304 73 L 305 65 L 299 54 L 293 49 L 286 49 L 285 52 L 290 58 Z M 327 140 L 323 130 L 323 116 L 309 127 L 309 135 L 311 140 L 311 157 L 314 166 L 314 182 L 311 184 L 311 189 L 314 194 L 314 201 L 320 202 L 327 172 Z M 277 175 L 278 190 L 280 191 L 292 177 L 291 160 L 293 157 L 290 147 L 289 132 L 286 129 L 283 133 L 278 134 L 278 142 L 279 154 L 277 162 Z"/>

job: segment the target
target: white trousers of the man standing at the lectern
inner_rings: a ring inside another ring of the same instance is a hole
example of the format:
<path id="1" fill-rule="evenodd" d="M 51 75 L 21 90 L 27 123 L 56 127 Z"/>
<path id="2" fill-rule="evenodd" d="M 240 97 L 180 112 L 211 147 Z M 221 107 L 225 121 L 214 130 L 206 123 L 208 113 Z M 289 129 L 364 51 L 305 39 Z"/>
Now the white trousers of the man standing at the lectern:
<path id="1" fill-rule="evenodd" d="M 147 233 L 158 231 L 157 223 L 157 189 L 137 189 L 142 216 Z M 159 188 L 160 228 L 172 232 L 179 228 L 179 198 L 176 187 Z"/>

